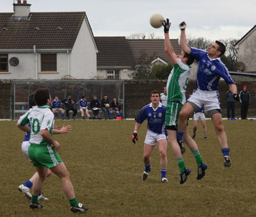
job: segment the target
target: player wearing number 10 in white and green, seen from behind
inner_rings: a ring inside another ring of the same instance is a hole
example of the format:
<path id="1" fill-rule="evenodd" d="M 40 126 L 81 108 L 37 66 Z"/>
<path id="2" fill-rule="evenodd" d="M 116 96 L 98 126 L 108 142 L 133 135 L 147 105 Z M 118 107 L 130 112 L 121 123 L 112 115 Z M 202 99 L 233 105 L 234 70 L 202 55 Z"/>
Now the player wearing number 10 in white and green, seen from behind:
<path id="1" fill-rule="evenodd" d="M 42 189 L 43 182 L 46 179 L 48 168 L 60 177 L 63 191 L 69 199 L 72 212 L 86 212 L 88 207 L 83 207 L 77 202 L 75 191 L 69 172 L 58 155 L 60 144 L 53 139 L 54 115 L 51 111 L 51 95 L 48 89 L 38 89 L 35 91 L 34 99 L 38 107 L 28 110 L 22 115 L 17 126 L 31 133 L 30 147 L 28 155 L 36 167 L 39 176 L 34 181 L 30 208 L 43 208 L 38 202 L 38 195 Z M 30 123 L 30 127 L 27 124 Z"/>

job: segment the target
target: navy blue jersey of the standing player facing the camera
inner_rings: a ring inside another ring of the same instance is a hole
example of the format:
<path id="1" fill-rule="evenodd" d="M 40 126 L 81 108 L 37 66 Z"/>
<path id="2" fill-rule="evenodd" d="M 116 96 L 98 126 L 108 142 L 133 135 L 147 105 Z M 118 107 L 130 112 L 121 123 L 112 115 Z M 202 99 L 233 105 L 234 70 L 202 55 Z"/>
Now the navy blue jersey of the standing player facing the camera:
<path id="1" fill-rule="evenodd" d="M 147 119 L 148 130 L 158 134 L 166 134 L 167 136 L 166 126 L 164 124 L 164 120 L 166 119 L 166 106 L 162 105 L 160 102 L 156 110 L 152 107 L 152 103 L 144 106 L 136 122 L 143 123 L 145 119 Z"/>

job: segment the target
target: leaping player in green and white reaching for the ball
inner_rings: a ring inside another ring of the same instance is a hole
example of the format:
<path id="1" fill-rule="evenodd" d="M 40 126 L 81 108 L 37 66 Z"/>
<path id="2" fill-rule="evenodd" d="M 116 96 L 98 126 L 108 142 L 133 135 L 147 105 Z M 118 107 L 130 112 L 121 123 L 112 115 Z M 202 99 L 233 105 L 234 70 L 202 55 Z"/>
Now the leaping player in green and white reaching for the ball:
<path id="1" fill-rule="evenodd" d="M 191 72 L 191 67 L 189 65 L 193 63 L 194 58 L 185 52 L 181 52 L 179 55 L 175 54 L 169 37 L 169 28 L 171 26 L 169 19 L 164 20 L 163 26 L 164 48 L 167 55 L 170 57 L 172 64 L 174 64 L 174 68 L 172 69 L 167 81 L 168 99 L 165 124 L 168 133 L 168 141 L 171 144 L 172 152 L 174 153 L 177 164 L 180 168 L 180 183 L 183 184 L 187 180 L 187 176 L 191 173 L 191 170 L 185 167 L 185 162 L 182 157 L 182 153 L 185 152 L 184 143 L 179 144 L 177 141 L 177 120 L 179 118 L 179 112 L 186 101 L 185 91 L 188 84 L 188 77 Z M 207 165 L 203 162 L 195 141 L 193 141 L 188 134 L 188 126 L 186 127 L 183 138 L 193 156 L 196 158 L 198 166 L 197 180 L 201 180 L 205 175 Z"/>

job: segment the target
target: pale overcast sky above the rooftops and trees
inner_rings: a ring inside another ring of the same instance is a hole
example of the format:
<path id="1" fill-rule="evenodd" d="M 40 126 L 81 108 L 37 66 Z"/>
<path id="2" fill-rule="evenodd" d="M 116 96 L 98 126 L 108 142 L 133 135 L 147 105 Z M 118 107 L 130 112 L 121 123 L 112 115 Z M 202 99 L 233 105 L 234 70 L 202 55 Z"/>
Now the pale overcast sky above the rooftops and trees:
<path id="1" fill-rule="evenodd" d="M 23 0 L 22 0 L 23 1 Z M 0 0 L 0 12 L 13 12 L 14 0 Z M 16 1 L 15 1 L 16 3 Z M 85 11 L 94 36 L 129 36 L 142 32 L 163 35 L 150 26 L 158 13 L 171 21 L 170 37 L 187 34 L 210 40 L 241 39 L 256 24 L 255 0 L 27 0 L 31 12 Z"/>

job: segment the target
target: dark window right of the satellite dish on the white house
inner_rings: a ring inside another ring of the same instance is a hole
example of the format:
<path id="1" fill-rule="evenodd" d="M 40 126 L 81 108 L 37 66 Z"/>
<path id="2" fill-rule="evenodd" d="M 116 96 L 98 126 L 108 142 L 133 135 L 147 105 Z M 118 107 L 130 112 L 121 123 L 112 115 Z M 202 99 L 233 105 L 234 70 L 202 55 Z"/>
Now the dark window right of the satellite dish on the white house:
<path id="1" fill-rule="evenodd" d="M 57 55 L 56 53 L 41 54 L 41 71 L 57 71 Z"/>

